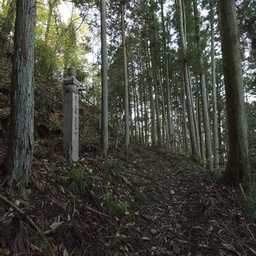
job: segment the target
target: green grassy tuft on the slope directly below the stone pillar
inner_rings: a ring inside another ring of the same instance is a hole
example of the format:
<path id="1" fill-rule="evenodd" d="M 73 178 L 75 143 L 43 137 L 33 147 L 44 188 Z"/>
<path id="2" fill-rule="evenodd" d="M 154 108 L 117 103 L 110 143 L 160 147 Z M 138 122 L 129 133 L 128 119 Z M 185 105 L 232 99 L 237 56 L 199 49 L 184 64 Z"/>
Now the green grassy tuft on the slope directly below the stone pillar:
<path id="1" fill-rule="evenodd" d="M 91 186 L 91 177 L 84 169 L 72 169 L 60 176 L 60 181 L 74 193 L 89 191 Z"/>

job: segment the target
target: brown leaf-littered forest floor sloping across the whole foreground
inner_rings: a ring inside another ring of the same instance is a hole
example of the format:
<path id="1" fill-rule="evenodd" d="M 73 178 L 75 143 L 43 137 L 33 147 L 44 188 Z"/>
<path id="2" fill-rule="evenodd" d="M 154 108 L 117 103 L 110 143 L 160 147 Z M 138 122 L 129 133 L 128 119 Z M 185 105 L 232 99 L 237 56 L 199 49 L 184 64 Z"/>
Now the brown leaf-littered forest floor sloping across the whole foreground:
<path id="1" fill-rule="evenodd" d="M 70 164 L 52 146 L 37 145 L 29 188 L 1 192 L 44 235 L 1 201 L 0 255 L 255 254 L 255 225 L 238 192 L 185 156 L 132 147 Z M 59 178 L 72 170 L 90 177 L 85 192 Z M 40 254 L 46 239 L 53 252 Z"/>

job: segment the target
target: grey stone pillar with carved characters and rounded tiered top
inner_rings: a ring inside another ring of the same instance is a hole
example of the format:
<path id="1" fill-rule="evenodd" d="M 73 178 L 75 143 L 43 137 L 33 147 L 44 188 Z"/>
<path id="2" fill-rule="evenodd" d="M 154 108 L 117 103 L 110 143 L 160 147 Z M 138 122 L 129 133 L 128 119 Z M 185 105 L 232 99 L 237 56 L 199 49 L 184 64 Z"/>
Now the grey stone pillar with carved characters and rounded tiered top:
<path id="1" fill-rule="evenodd" d="M 79 139 L 79 98 L 80 82 L 76 79 L 77 69 L 68 69 L 68 77 L 64 78 L 65 85 L 63 107 L 63 153 L 68 160 L 78 161 Z"/>

